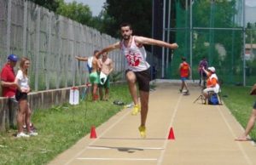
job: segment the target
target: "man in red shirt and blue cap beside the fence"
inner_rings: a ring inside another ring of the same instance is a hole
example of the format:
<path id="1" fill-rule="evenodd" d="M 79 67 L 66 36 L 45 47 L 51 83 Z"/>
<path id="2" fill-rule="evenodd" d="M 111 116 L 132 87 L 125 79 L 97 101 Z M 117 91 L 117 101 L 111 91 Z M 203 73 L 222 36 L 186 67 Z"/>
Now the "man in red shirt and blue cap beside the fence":
<path id="1" fill-rule="evenodd" d="M 17 61 L 18 57 L 15 54 L 9 54 L 8 61 L 3 66 L 3 69 L 1 71 L 1 87 L 3 97 L 15 97 L 16 85 L 14 68 Z"/>

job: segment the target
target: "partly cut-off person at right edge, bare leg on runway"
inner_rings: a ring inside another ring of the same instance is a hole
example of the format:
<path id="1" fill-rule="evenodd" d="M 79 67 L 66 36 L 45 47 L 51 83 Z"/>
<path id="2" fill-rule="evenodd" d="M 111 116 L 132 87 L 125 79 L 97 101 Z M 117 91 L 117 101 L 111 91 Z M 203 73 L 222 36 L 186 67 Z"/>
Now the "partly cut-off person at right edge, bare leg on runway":
<path id="1" fill-rule="evenodd" d="M 253 88 L 250 92 L 251 95 L 256 95 L 256 83 L 253 85 Z M 236 141 L 247 141 L 247 140 L 251 140 L 248 139 L 247 136 L 250 134 L 250 132 L 252 131 L 253 127 L 254 127 L 254 123 L 256 121 L 256 101 L 253 104 L 253 110 L 251 113 L 251 116 L 247 122 L 247 128 L 245 129 L 244 133 L 241 134 L 240 137 L 236 138 Z"/>

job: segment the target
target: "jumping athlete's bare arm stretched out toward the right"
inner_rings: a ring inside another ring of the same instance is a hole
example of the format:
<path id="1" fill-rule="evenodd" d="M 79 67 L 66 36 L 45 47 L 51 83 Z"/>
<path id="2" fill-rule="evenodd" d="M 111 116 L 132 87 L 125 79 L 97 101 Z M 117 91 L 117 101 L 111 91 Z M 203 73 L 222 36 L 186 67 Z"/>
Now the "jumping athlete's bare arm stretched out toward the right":
<path id="1" fill-rule="evenodd" d="M 148 44 L 148 45 L 157 45 L 160 47 L 166 47 L 166 48 L 177 48 L 177 43 L 166 43 L 160 40 L 156 40 L 153 38 L 148 38 L 148 37 L 135 37 L 135 42 L 140 43 L 140 44 Z"/>

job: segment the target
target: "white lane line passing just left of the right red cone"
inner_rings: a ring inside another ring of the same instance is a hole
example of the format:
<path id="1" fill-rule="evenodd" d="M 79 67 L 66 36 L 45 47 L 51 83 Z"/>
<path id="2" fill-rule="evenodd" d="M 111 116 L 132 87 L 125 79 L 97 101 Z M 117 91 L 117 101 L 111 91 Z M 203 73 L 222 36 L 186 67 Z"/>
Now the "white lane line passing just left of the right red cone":
<path id="1" fill-rule="evenodd" d="M 174 122 L 174 118 L 176 117 L 176 114 L 177 114 L 177 107 L 178 107 L 178 105 L 180 104 L 182 97 L 183 97 L 183 95 L 181 94 L 181 95 L 179 96 L 178 100 L 177 100 L 177 104 L 175 105 L 174 111 L 173 111 L 173 113 L 172 113 L 172 119 L 171 119 L 171 121 L 170 121 L 170 123 L 169 123 L 169 128 L 172 127 L 172 124 L 173 124 L 173 122 Z M 166 134 L 166 137 L 168 136 L 168 134 L 169 134 L 169 132 Z M 166 140 L 165 140 L 165 144 L 163 145 L 163 148 L 166 148 L 166 145 L 168 144 L 168 141 L 169 141 L 169 139 L 166 139 Z M 163 162 L 163 158 L 164 158 L 165 152 L 166 152 L 166 150 L 162 150 L 162 151 L 161 151 L 161 153 L 160 153 L 160 158 L 159 158 L 158 161 L 157 161 L 157 165 L 160 165 L 160 164 Z"/>

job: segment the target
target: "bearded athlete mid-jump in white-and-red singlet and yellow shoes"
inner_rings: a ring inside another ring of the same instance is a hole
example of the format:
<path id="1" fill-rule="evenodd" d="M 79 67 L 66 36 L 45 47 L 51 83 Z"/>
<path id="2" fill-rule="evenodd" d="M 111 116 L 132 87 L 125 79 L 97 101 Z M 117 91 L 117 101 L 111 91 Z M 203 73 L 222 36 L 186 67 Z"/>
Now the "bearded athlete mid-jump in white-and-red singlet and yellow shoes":
<path id="1" fill-rule="evenodd" d="M 126 80 L 129 86 L 130 94 L 134 102 L 134 108 L 131 115 L 137 115 L 141 111 L 141 125 L 139 132 L 143 138 L 146 137 L 146 120 L 148 115 L 148 97 L 149 97 L 149 83 L 150 83 L 150 68 L 146 61 L 146 50 L 143 44 L 157 45 L 166 48 L 177 48 L 176 43 L 166 43 L 160 40 L 155 40 L 148 37 L 132 36 L 132 28 L 130 24 L 124 23 L 120 26 L 122 40 L 103 48 L 99 54 L 109 52 L 119 48 L 122 55 L 127 61 L 127 70 L 125 71 Z M 141 105 L 139 105 L 137 97 L 137 84 L 139 88 L 139 95 Z"/>

